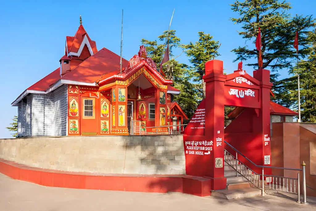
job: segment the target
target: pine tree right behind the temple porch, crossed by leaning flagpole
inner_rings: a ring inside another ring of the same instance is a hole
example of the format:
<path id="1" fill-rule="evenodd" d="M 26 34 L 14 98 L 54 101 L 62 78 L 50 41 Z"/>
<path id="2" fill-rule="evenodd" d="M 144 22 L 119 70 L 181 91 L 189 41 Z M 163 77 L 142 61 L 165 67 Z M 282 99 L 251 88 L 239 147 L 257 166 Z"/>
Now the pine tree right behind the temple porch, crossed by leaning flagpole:
<path id="1" fill-rule="evenodd" d="M 167 79 L 173 80 L 173 86 L 180 90 L 180 94 L 174 96 L 174 100 L 178 102 L 180 107 L 183 109 L 188 118 L 194 114 L 195 109 L 199 103 L 200 96 L 196 91 L 195 84 L 191 83 L 191 78 L 193 73 L 188 65 L 179 63 L 174 57 L 173 50 L 179 48 L 184 50 L 183 45 L 180 44 L 180 39 L 175 35 L 175 30 L 170 30 L 167 36 L 167 31 L 164 31 L 162 35 L 158 36 L 159 42 L 157 40 L 150 41 L 142 39 L 141 43 L 145 46 L 147 55 L 151 57 L 157 65 L 157 70 L 160 68 L 161 60 L 164 56 L 166 50 L 166 38 L 169 40 L 169 62 L 162 65 L 162 69 L 166 74 Z"/>

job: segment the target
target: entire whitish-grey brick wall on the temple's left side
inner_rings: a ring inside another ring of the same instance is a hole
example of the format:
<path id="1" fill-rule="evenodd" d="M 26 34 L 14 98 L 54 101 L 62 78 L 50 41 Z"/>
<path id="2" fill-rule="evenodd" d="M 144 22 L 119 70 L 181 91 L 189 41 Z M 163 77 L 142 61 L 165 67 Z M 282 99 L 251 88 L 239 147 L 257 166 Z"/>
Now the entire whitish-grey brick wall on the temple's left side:
<path id="1" fill-rule="evenodd" d="M 67 85 L 48 94 L 29 94 L 18 104 L 18 136 L 67 135 Z"/>

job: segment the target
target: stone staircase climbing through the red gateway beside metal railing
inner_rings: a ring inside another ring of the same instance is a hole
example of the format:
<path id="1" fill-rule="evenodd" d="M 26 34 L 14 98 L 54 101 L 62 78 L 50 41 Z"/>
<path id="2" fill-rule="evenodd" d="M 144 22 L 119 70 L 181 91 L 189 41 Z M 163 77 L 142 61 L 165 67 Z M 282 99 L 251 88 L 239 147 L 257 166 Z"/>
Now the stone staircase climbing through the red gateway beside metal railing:
<path id="1" fill-rule="evenodd" d="M 236 167 L 236 164 L 234 167 Z M 242 169 L 243 165 L 239 164 L 238 168 Z M 212 196 L 224 199 L 240 199 L 261 195 L 260 189 L 252 188 L 249 181 L 240 174 L 236 175 L 236 170 L 226 162 L 224 164 L 224 176 L 227 178 L 226 189 L 212 191 Z"/>

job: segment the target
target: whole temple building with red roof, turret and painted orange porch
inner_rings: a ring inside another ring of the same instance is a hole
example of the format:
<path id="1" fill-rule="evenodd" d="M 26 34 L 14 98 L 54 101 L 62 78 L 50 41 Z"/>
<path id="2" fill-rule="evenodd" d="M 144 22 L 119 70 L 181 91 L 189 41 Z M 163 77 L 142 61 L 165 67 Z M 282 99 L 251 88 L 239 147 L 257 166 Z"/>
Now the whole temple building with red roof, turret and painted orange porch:
<path id="1" fill-rule="evenodd" d="M 97 50 L 80 22 L 66 37 L 60 67 L 27 88 L 18 107 L 18 137 L 131 135 L 183 131 L 186 115 L 144 46 L 129 61 Z M 172 125 L 177 125 L 173 126 Z"/>

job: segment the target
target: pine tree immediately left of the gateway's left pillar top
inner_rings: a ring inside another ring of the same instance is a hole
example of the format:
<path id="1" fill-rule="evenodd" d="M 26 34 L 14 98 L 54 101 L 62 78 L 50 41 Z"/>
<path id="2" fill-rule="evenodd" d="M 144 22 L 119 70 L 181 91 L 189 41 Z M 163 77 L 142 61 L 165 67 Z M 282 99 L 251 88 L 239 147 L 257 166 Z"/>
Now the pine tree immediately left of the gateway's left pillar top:
<path id="1" fill-rule="evenodd" d="M 205 63 L 220 56 L 218 49 L 221 44 L 219 44 L 219 41 L 213 40 L 213 36 L 210 36 L 210 34 L 198 32 L 198 35 L 199 40 L 196 43 L 193 44 L 190 42 L 189 45 L 185 45 L 184 47 L 192 64 L 191 69 L 194 73 L 193 81 L 197 82 L 196 90 L 203 94 L 203 98 L 205 98 L 205 83 L 202 79 L 205 74 Z"/>

